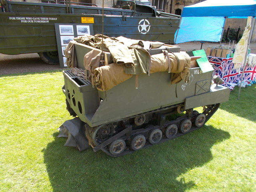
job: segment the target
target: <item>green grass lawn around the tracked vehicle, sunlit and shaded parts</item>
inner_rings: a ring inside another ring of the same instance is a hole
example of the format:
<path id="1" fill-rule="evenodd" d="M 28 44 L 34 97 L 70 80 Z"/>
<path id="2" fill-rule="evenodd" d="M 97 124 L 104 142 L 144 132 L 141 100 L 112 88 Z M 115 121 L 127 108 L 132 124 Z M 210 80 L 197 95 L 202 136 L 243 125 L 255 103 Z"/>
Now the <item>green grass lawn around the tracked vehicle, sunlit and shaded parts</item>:
<path id="1" fill-rule="evenodd" d="M 205 126 L 112 158 L 64 147 L 62 72 L 0 76 L 0 192 L 255 192 L 256 86 Z"/>

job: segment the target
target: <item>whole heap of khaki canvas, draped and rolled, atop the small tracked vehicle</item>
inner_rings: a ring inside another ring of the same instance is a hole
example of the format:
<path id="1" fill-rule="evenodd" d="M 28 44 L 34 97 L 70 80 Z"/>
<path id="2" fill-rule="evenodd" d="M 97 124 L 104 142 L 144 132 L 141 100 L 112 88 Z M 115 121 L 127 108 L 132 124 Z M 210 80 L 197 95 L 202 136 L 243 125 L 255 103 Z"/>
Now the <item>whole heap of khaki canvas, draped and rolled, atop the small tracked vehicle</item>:
<path id="1" fill-rule="evenodd" d="M 162 42 L 148 42 L 142 40 L 132 40 L 124 37 L 108 38 L 101 35 L 81 36 L 74 38 L 76 43 L 90 45 L 94 48 L 84 55 L 84 78 L 92 83 L 92 86 L 100 91 L 110 90 L 112 87 L 128 80 L 136 75 L 136 88 L 138 88 L 138 75 L 154 72 L 168 71 L 171 83 L 178 83 L 181 80 L 188 82 L 190 57 L 184 53 L 172 53 L 162 50 L 161 54 L 150 56 L 150 49 L 164 45 Z M 74 42 L 70 42 L 67 47 L 69 58 L 74 58 Z M 113 58 L 112 64 L 101 65 L 101 53 L 103 50 L 110 51 Z M 67 52 L 67 50 L 65 50 Z M 71 64 L 72 62 L 70 62 Z M 71 66 L 71 65 L 69 65 Z M 76 70 L 75 70 L 76 71 Z M 89 72 L 89 73 L 87 73 Z"/>

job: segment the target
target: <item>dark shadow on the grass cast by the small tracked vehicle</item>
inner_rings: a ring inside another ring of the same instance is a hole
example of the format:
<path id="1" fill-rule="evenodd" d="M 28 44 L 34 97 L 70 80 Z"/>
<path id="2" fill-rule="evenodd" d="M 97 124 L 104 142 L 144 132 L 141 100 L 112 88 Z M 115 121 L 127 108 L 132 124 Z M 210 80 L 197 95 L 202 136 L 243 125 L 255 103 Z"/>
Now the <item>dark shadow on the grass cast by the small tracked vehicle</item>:
<path id="1" fill-rule="evenodd" d="M 156 144 L 126 156 L 112 158 L 92 149 L 79 152 L 57 138 L 44 149 L 44 163 L 54 192 L 184 192 L 196 185 L 182 174 L 212 160 L 214 144 L 230 134 L 212 126 Z"/>

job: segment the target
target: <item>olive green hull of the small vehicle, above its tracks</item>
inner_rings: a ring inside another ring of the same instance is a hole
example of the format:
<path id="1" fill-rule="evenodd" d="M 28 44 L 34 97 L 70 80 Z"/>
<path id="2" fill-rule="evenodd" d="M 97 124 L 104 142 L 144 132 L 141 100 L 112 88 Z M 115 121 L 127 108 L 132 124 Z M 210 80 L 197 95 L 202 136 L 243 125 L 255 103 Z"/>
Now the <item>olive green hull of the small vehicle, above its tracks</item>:
<path id="1" fill-rule="evenodd" d="M 65 94 L 77 116 L 89 126 L 115 122 L 164 107 L 184 104 L 185 109 L 228 101 L 230 90 L 211 85 L 212 72 L 190 69 L 190 81 L 171 84 L 170 73 L 158 72 L 136 76 L 114 88 L 100 92 L 91 84 L 64 71 Z"/>

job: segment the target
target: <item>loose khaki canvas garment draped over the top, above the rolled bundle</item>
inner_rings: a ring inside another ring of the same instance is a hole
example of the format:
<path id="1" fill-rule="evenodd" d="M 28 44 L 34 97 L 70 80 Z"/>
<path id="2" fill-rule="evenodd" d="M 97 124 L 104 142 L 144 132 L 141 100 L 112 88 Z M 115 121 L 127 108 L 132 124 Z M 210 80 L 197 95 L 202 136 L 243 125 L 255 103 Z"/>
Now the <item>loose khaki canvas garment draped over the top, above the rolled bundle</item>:
<path id="1" fill-rule="evenodd" d="M 164 44 L 161 42 L 133 40 L 122 36 L 118 38 L 102 37 L 101 34 L 80 36 L 74 38 L 74 40 L 99 50 L 110 52 L 113 62 L 124 65 L 127 74 L 148 74 L 150 71 L 150 54 L 148 50 Z"/>

